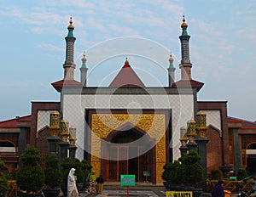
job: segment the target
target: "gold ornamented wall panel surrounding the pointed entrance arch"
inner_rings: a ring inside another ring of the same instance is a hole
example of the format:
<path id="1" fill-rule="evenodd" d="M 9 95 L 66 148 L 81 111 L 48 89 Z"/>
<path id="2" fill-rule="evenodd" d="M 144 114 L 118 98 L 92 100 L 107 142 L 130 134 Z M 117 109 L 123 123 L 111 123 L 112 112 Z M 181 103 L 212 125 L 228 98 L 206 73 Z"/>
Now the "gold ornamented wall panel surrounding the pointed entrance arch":
<path id="1" fill-rule="evenodd" d="M 101 140 L 125 123 L 147 132 L 155 140 L 156 183 L 162 183 L 161 174 L 166 163 L 166 114 L 92 114 L 90 164 L 97 174 L 101 172 Z"/>

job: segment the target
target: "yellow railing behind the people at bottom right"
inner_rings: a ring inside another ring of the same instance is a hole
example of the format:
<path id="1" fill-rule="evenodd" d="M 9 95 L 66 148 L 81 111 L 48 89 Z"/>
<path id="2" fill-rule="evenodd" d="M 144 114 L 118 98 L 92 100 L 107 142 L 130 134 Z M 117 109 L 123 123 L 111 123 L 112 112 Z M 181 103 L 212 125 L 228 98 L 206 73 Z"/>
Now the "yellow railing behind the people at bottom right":
<path id="1" fill-rule="evenodd" d="M 215 187 L 218 181 L 207 181 L 207 190 L 212 192 L 212 189 Z M 238 193 L 238 189 L 236 189 L 236 184 L 241 183 L 239 181 L 230 181 L 224 180 L 224 189 L 229 190 L 231 193 Z M 251 194 L 253 192 L 253 179 L 247 179 L 246 182 L 242 182 L 243 190 L 247 194 Z"/>

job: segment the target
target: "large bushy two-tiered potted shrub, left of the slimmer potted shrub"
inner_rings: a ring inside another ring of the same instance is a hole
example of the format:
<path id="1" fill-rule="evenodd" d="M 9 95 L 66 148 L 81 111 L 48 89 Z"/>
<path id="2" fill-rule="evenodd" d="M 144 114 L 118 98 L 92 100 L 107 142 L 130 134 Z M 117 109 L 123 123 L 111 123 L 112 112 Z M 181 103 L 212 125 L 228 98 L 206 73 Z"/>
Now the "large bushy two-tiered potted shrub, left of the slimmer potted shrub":
<path id="1" fill-rule="evenodd" d="M 39 166 L 42 160 L 38 149 L 29 147 L 20 155 L 22 166 L 17 172 L 17 185 L 20 189 L 20 195 L 41 196 L 44 186 L 44 171 Z"/>

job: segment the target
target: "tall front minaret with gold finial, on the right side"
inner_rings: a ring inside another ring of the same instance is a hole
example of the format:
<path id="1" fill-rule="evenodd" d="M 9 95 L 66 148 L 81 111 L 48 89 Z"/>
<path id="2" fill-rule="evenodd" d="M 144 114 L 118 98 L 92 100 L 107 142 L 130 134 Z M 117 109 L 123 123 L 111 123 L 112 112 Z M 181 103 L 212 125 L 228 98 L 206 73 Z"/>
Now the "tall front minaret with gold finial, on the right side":
<path id="1" fill-rule="evenodd" d="M 191 67 L 192 64 L 190 63 L 189 59 L 189 38 L 187 28 L 188 24 L 185 23 L 185 18 L 183 15 L 183 24 L 181 25 L 181 28 L 183 30 L 182 35 L 179 37 L 181 42 L 181 54 L 182 59 L 181 63 L 179 65 L 179 68 L 181 69 L 181 80 L 191 80 Z"/>

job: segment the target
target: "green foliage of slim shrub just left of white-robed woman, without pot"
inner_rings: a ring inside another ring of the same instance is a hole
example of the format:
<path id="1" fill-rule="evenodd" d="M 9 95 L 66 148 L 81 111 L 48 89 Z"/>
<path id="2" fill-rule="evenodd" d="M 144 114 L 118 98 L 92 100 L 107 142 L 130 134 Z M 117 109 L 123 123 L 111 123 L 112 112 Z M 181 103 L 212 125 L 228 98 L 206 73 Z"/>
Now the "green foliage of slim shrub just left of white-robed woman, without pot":
<path id="1" fill-rule="evenodd" d="M 45 184 L 51 189 L 57 189 L 61 187 L 62 183 L 62 172 L 59 169 L 59 160 L 53 156 L 45 160 Z"/>

